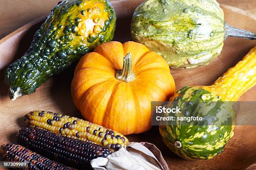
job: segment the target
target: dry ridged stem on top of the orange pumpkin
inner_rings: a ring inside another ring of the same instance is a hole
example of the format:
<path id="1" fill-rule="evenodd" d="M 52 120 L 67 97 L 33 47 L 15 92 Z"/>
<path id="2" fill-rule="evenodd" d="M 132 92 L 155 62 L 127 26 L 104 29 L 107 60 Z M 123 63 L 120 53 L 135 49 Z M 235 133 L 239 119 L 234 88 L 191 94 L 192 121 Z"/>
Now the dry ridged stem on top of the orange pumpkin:
<path id="1" fill-rule="evenodd" d="M 123 82 L 130 82 L 135 79 L 132 67 L 131 52 L 128 52 L 123 58 L 123 69 L 115 73 L 115 78 Z"/>

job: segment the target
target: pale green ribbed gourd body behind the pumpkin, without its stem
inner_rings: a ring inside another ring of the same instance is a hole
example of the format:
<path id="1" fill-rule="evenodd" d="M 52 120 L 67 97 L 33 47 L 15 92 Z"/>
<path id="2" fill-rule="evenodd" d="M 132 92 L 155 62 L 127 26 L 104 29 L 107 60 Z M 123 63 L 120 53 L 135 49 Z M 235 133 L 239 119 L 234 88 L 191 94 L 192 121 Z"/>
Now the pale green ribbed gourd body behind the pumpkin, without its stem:
<path id="1" fill-rule="evenodd" d="M 222 50 L 224 14 L 215 0 L 147 0 L 133 13 L 131 35 L 171 67 L 207 65 Z"/>

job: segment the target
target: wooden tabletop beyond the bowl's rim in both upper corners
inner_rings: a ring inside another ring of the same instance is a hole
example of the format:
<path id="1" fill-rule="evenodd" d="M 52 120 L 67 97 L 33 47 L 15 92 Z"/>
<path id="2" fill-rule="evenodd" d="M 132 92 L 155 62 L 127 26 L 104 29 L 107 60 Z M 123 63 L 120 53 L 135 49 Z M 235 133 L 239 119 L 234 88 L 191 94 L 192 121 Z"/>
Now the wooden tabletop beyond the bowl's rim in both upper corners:
<path id="1" fill-rule="evenodd" d="M 60 0 L 0 0 L 0 38 L 26 23 L 50 13 Z M 256 17 L 256 0 L 217 0 L 245 10 Z"/>

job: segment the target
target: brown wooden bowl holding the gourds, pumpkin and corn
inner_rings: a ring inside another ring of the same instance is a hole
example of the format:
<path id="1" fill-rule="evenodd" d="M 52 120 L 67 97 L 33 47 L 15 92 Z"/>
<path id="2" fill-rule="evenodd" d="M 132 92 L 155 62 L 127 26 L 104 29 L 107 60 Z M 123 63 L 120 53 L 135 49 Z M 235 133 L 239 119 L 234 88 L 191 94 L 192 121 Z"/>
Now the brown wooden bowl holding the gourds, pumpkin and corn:
<path id="1" fill-rule="evenodd" d="M 120 42 L 131 40 L 131 16 L 141 2 L 143 0 L 112 1 L 118 17 L 114 40 Z M 230 25 L 256 32 L 255 18 L 234 7 L 226 5 L 221 7 L 225 13 L 225 20 Z M 60 75 L 51 77 L 35 93 L 24 95 L 15 101 L 9 99 L 4 80 L 6 68 L 26 52 L 34 33 L 44 19 L 45 17 L 42 17 L 28 23 L 0 40 L 0 145 L 16 142 L 15 135 L 24 126 L 23 116 L 31 110 L 49 110 L 82 118 L 70 95 L 70 83 L 75 65 Z M 171 69 L 177 89 L 187 85 L 211 85 L 228 68 L 236 65 L 256 45 L 256 42 L 228 37 L 224 44 L 221 55 L 207 66 L 183 70 Z M 248 90 L 240 100 L 256 101 L 256 87 Z M 130 141 L 154 143 L 161 150 L 172 170 L 241 170 L 249 166 L 251 168 L 248 169 L 256 167 L 253 165 L 256 162 L 256 126 L 236 126 L 235 135 L 226 145 L 224 152 L 211 160 L 184 160 L 175 155 L 161 141 L 157 126 L 146 133 L 127 137 Z"/>

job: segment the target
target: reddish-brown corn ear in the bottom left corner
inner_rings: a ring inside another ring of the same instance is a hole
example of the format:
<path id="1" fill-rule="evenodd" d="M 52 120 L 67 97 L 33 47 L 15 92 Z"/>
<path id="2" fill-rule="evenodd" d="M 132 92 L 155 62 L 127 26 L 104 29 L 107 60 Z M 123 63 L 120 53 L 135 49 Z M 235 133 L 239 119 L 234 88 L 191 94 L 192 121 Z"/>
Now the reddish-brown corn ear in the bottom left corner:
<path id="1" fill-rule="evenodd" d="M 26 167 L 20 169 L 26 170 L 75 170 L 61 163 L 49 160 L 23 146 L 15 144 L 2 145 L 0 148 L 1 158 L 4 161 L 17 161 L 28 163 Z M 17 168 L 15 168 L 17 169 Z"/>

